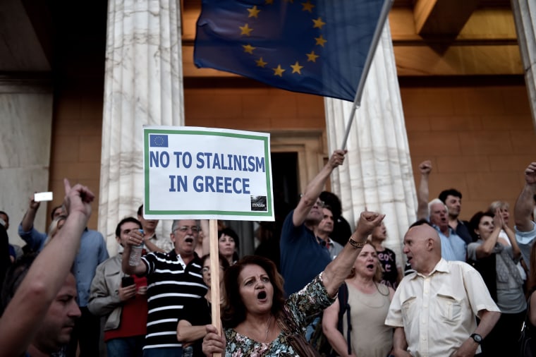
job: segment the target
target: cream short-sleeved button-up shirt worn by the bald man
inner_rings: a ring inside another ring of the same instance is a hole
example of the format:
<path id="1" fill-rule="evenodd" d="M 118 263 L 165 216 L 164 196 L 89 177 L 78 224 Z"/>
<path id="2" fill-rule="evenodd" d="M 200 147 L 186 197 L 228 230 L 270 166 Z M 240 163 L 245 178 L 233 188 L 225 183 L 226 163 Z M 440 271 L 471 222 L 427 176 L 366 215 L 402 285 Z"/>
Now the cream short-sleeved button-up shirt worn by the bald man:
<path id="1" fill-rule="evenodd" d="M 414 357 L 451 356 L 475 332 L 480 310 L 500 312 L 480 273 L 465 262 L 441 258 L 430 275 L 404 277 L 385 325 L 403 327 Z"/>

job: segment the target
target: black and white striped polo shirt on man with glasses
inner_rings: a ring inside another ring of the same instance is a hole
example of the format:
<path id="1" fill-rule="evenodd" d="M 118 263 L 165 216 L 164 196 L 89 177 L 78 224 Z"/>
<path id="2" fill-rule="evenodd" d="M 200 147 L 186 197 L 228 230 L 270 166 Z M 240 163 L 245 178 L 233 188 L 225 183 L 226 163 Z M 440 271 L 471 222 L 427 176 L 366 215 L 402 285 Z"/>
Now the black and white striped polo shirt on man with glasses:
<path id="1" fill-rule="evenodd" d="M 188 263 L 175 251 L 149 253 L 142 257 L 147 266 L 147 335 L 143 349 L 181 347 L 177 341 L 177 316 L 184 305 L 205 296 L 201 260 Z"/>

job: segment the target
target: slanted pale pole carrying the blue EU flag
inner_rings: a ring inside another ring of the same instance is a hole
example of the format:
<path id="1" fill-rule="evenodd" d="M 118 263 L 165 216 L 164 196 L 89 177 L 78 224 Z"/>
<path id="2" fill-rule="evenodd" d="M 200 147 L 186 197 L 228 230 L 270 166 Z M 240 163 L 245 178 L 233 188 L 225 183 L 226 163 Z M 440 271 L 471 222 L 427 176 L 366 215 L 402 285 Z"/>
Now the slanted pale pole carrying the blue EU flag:
<path id="1" fill-rule="evenodd" d="M 370 65 L 372 64 L 372 59 L 374 59 L 374 54 L 376 54 L 376 48 L 378 47 L 380 37 L 382 37 L 385 21 L 387 20 L 387 16 L 389 16 L 389 11 L 391 10 L 391 6 L 393 6 L 393 2 L 394 0 L 385 0 L 384 5 L 382 6 L 382 11 L 379 13 L 378 23 L 374 30 L 372 42 L 370 43 L 370 51 L 368 52 L 367 59 L 365 59 L 365 64 L 363 65 L 363 73 L 361 73 L 361 78 L 359 78 L 358 89 L 355 91 L 355 99 L 353 99 L 352 110 L 350 111 L 348 123 L 346 124 L 346 133 L 344 134 L 342 150 L 346 149 L 346 143 L 348 141 L 348 136 L 350 135 L 350 129 L 352 128 L 355 110 L 361 107 L 361 97 L 363 96 L 363 90 L 365 88 L 365 80 L 367 80 Z"/>

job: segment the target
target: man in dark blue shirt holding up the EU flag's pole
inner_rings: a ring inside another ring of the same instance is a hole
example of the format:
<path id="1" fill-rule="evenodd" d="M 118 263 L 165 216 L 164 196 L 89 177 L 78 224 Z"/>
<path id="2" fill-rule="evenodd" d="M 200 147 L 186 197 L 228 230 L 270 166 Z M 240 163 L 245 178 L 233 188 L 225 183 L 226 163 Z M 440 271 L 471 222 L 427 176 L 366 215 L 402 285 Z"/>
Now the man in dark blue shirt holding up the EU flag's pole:
<path id="1" fill-rule="evenodd" d="M 291 295 L 309 283 L 331 262 L 329 251 L 314 233 L 324 212 L 318 196 L 331 172 L 344 161 L 346 150 L 335 150 L 319 174 L 307 184 L 296 209 L 288 213 L 281 229 L 281 275 L 285 293 Z M 348 237 L 349 238 L 349 237 Z"/>

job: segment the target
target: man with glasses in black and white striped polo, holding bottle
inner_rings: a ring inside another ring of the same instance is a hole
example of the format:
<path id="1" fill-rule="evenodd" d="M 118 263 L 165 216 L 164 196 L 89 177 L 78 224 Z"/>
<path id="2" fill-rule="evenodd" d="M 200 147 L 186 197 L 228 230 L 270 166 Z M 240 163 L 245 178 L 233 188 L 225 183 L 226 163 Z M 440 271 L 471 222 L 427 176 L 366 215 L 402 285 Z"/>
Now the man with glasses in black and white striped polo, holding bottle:
<path id="1" fill-rule="evenodd" d="M 169 253 L 152 252 L 143 256 L 138 265 L 129 265 L 123 259 L 123 272 L 147 276 L 147 335 L 144 357 L 182 356 L 182 344 L 177 341 L 177 316 L 183 306 L 195 298 L 205 296 L 200 258 L 195 253 L 199 222 L 178 219 L 171 226 L 174 250 Z M 132 246 L 142 243 L 138 231 L 130 231 L 123 254 L 130 257 Z"/>

